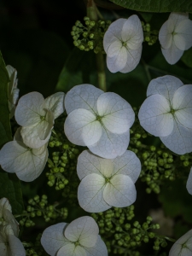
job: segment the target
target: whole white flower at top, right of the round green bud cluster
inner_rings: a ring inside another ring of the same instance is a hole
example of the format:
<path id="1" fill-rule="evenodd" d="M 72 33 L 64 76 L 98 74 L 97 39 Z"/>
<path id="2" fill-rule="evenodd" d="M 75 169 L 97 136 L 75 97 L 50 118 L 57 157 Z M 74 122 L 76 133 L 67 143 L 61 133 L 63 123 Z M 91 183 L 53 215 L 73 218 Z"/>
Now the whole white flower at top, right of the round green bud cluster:
<path id="1" fill-rule="evenodd" d="M 143 28 L 137 15 L 115 20 L 103 38 L 110 72 L 128 73 L 137 67 L 142 55 Z"/>

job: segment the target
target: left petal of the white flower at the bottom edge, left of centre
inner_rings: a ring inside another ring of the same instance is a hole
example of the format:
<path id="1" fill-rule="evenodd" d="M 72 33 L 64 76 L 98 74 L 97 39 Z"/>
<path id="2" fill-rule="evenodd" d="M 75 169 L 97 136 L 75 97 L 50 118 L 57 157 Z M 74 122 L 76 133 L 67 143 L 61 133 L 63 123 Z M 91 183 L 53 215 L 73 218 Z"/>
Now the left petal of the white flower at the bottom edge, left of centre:
<path id="1" fill-rule="evenodd" d="M 49 226 L 41 237 L 41 244 L 44 247 L 44 250 L 50 255 L 55 256 L 56 252 L 69 243 L 64 236 L 64 229 L 67 223 L 59 223 L 52 226 Z"/>

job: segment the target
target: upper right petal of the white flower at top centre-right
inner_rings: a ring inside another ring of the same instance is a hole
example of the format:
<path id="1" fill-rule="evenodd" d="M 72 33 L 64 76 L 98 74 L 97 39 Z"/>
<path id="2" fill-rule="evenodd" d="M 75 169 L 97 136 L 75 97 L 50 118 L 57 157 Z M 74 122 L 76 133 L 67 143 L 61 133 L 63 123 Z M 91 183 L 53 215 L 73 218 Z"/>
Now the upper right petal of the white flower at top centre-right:
<path id="1" fill-rule="evenodd" d="M 137 15 L 131 15 L 125 21 L 121 32 L 122 40 L 127 42 L 129 49 L 138 49 L 143 43 L 142 23 Z"/>

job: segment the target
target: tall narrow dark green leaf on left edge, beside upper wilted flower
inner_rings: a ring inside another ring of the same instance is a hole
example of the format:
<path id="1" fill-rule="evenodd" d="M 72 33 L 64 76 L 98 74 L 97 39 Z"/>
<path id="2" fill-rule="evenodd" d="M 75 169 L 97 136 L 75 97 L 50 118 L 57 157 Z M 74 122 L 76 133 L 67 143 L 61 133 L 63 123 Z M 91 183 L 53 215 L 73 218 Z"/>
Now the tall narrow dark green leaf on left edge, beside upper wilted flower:
<path id="1" fill-rule="evenodd" d="M 8 83 L 9 74 L 0 53 L 0 147 L 12 139 L 9 121 Z"/>

